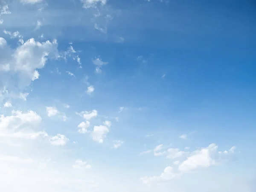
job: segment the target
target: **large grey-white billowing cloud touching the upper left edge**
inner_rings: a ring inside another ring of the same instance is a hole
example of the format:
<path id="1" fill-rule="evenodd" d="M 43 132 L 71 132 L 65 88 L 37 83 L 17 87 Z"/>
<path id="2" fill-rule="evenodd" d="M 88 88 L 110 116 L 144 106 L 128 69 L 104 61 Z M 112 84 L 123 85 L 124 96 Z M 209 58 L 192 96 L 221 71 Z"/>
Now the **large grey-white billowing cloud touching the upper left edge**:
<path id="1" fill-rule="evenodd" d="M 12 49 L 0 38 L 0 72 L 4 74 L 0 81 L 4 81 L 7 89 L 21 92 L 31 81 L 39 78 L 38 69 L 45 66 L 50 56 L 58 57 L 57 47 L 56 40 L 41 43 L 31 38 Z M 16 79 L 12 78 L 14 74 L 17 74 Z"/>

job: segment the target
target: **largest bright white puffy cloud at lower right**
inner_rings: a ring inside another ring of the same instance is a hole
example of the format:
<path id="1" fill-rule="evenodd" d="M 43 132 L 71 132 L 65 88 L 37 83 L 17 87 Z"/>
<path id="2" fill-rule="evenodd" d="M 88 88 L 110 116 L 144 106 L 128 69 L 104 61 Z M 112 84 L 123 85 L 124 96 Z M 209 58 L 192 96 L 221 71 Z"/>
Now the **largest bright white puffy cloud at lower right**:
<path id="1" fill-rule="evenodd" d="M 212 155 L 215 154 L 217 148 L 218 146 L 213 143 L 207 148 L 195 151 L 195 154 L 187 157 L 187 159 L 180 164 L 179 170 L 181 172 L 189 172 L 198 167 L 209 167 L 214 165 L 215 160 L 212 159 Z"/>

